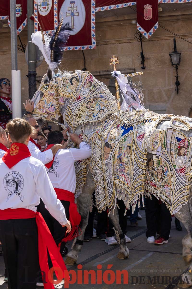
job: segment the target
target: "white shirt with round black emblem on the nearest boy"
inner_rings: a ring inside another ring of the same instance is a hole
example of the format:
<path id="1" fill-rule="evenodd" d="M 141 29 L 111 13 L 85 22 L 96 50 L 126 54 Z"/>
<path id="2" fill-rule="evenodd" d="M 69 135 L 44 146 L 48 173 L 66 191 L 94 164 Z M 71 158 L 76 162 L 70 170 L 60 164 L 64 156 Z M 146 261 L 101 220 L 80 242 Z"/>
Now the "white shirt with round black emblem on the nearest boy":
<path id="1" fill-rule="evenodd" d="M 36 212 L 40 197 L 45 208 L 61 224 L 67 219 L 62 203 L 41 161 L 28 157 L 11 169 L 0 159 L 0 210 L 25 208 Z"/>

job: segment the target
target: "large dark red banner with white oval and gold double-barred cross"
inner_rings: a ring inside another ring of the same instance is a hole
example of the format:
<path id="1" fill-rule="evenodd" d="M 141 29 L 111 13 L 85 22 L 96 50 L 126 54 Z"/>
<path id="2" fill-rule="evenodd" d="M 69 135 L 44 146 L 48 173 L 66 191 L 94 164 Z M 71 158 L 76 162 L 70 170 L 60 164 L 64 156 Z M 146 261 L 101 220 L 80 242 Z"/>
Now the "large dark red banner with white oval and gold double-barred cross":
<path id="1" fill-rule="evenodd" d="M 58 0 L 58 22 L 69 22 L 73 31 L 65 50 L 95 49 L 95 0 Z"/>

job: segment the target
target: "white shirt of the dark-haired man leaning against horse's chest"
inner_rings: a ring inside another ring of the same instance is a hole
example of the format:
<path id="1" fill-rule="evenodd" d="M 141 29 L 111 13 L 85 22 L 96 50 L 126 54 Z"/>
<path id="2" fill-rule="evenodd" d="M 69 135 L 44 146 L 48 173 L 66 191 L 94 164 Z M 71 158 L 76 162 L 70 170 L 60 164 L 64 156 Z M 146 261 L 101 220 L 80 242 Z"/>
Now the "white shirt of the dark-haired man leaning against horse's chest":
<path id="1" fill-rule="evenodd" d="M 79 144 L 79 149 L 59 149 L 51 168 L 46 168 L 53 187 L 75 193 L 75 161 L 84 160 L 90 156 L 91 147 L 85 142 Z"/>

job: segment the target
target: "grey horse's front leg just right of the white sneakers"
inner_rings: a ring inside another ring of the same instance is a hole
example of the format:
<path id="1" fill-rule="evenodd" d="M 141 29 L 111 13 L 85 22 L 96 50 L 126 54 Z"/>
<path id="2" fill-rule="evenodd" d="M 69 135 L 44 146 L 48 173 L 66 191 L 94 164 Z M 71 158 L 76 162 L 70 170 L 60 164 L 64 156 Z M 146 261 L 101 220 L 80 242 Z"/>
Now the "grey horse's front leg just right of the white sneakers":
<path id="1" fill-rule="evenodd" d="M 118 231 L 119 234 L 119 238 L 120 238 L 120 248 L 119 248 L 119 253 L 117 255 L 117 258 L 119 259 L 125 259 L 129 257 L 129 250 L 126 246 L 126 239 L 125 239 L 125 235 L 123 234 L 121 227 L 119 225 L 119 215 L 117 212 L 117 207 L 114 210 L 114 215 L 113 212 L 111 211 L 110 215 L 109 215 L 109 219 L 111 221 L 111 223 L 114 225 L 115 230 Z"/>

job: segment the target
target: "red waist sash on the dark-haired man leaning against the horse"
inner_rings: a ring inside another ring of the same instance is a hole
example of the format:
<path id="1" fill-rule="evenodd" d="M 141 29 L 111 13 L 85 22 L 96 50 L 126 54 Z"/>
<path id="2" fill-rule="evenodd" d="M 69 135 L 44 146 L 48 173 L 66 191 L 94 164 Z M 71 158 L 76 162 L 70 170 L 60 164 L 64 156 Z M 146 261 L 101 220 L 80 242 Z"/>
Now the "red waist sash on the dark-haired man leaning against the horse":
<path id="1" fill-rule="evenodd" d="M 62 190 L 58 188 L 54 188 L 57 194 L 57 198 L 60 201 L 68 201 L 70 202 L 69 205 L 69 221 L 71 222 L 71 232 L 66 234 L 65 237 L 62 239 L 63 242 L 72 240 L 77 238 L 79 235 L 82 234 L 81 229 L 79 228 L 79 224 L 81 222 L 81 216 L 77 212 L 77 205 L 75 204 L 75 195 L 67 190 Z M 79 234 L 80 231 L 80 234 Z"/>

